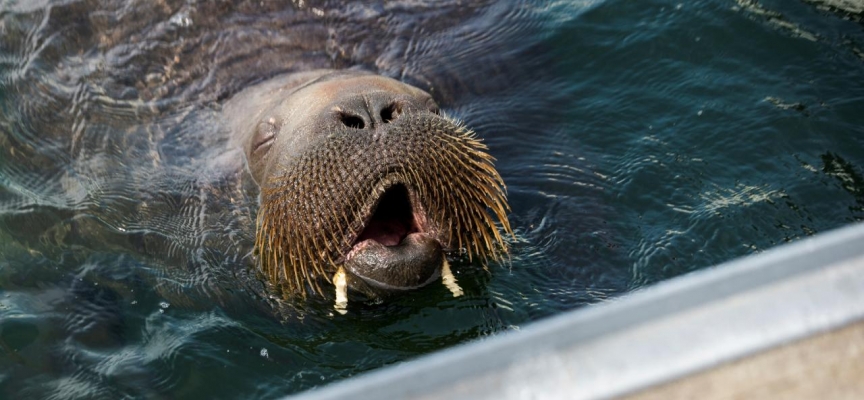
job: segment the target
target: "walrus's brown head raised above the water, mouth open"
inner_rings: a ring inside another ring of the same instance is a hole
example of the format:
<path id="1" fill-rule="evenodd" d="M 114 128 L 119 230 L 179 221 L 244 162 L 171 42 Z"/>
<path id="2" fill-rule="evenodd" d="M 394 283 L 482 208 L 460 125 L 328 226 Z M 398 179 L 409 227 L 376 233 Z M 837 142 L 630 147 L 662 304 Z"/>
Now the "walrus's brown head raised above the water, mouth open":
<path id="1" fill-rule="evenodd" d="M 360 71 L 271 79 L 224 107 L 261 189 L 256 255 L 288 295 L 337 271 L 379 295 L 418 288 L 449 252 L 507 251 L 504 183 L 486 147 L 428 93 Z"/>

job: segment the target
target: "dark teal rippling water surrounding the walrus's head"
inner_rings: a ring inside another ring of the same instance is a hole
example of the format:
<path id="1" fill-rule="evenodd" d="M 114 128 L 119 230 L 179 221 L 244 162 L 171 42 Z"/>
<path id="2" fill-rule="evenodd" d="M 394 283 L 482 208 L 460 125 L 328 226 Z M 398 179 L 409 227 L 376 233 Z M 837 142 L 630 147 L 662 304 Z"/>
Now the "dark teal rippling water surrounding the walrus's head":
<path id="1" fill-rule="evenodd" d="M 340 3 L 0 3 L 0 397 L 274 398 L 864 218 L 860 2 Z M 254 294 L 220 107 L 317 67 L 486 139 L 508 263 L 345 316 Z"/>

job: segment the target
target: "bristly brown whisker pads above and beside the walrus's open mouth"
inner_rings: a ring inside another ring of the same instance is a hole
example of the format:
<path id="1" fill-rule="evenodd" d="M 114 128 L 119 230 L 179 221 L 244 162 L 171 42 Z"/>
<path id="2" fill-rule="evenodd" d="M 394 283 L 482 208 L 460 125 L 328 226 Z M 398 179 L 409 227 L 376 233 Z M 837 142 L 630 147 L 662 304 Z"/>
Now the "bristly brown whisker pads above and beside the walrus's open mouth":
<path id="1" fill-rule="evenodd" d="M 476 134 L 430 112 L 390 125 L 374 138 L 336 129 L 262 185 L 259 267 L 285 293 L 320 294 L 316 278 L 332 283 L 341 276 L 334 273 L 344 274 L 341 263 L 363 219 L 393 185 L 413 193 L 424 223 L 440 232 L 445 250 L 461 249 L 469 260 L 484 263 L 507 253 L 495 223 L 512 234 L 506 189 Z"/>

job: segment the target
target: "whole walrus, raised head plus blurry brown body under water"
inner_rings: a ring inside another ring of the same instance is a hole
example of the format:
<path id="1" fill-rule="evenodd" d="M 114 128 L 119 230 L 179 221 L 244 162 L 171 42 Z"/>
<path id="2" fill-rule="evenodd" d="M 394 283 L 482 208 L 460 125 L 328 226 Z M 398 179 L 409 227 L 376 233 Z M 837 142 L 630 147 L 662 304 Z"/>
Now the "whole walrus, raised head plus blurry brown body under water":
<path id="1" fill-rule="evenodd" d="M 512 51 L 532 44 L 506 30 L 455 50 L 508 7 L 73 3 L 51 9 L 39 84 L 9 89 L 34 139 L 0 133 L 13 200 L 37 210 L 7 218 L 22 248 L 130 257 L 136 293 L 265 314 L 329 302 L 334 278 L 382 296 L 505 255 L 504 184 L 469 129 L 501 119 L 465 107 L 526 90 Z M 429 45 L 406 56 L 408 38 Z"/>

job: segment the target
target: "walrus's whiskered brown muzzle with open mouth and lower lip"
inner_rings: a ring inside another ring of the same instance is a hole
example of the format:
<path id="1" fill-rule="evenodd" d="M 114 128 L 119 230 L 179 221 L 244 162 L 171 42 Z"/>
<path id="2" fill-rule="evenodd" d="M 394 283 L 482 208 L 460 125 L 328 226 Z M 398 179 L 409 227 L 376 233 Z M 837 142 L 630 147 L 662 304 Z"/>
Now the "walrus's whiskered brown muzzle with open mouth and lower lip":
<path id="1" fill-rule="evenodd" d="M 445 250 L 501 259 L 504 182 L 473 131 L 418 111 L 358 133 L 328 132 L 261 185 L 255 245 L 270 282 L 305 296 L 347 270 L 406 290 L 438 276 Z"/>

